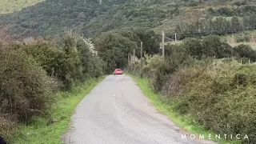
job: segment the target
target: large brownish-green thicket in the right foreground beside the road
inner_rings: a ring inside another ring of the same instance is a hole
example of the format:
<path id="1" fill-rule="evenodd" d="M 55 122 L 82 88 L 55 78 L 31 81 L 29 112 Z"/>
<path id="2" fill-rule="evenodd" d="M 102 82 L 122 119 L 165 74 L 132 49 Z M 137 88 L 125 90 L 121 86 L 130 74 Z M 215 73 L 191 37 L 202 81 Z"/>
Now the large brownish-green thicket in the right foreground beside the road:
<path id="1" fill-rule="evenodd" d="M 207 129 L 255 142 L 255 70 L 234 60 L 181 68 L 170 75 L 163 94 L 175 102 L 174 110 Z"/>

